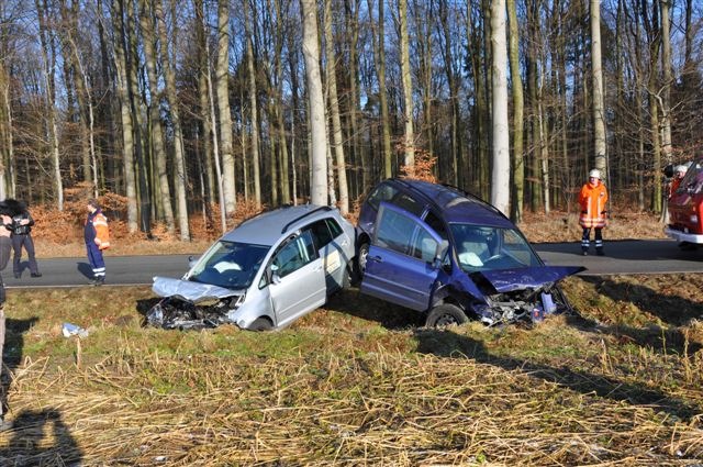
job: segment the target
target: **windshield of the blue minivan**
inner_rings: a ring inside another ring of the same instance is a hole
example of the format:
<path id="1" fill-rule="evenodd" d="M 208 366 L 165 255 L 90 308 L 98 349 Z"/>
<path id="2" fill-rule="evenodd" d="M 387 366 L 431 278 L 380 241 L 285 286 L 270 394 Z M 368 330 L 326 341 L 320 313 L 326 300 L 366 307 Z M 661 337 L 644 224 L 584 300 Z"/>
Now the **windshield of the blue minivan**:
<path id="1" fill-rule="evenodd" d="M 523 235 L 514 229 L 450 224 L 461 269 L 512 269 L 540 266 L 542 262 Z"/>

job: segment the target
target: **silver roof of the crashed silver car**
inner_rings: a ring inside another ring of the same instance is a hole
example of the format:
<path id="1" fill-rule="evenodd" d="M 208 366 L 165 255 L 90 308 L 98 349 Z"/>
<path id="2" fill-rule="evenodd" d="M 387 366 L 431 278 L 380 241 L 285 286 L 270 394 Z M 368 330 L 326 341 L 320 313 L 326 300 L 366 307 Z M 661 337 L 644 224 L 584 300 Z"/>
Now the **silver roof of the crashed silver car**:
<path id="1" fill-rule="evenodd" d="M 227 242 L 274 245 L 284 233 L 293 232 L 302 223 L 328 218 L 336 212 L 327 205 L 301 204 L 278 208 L 247 219 L 222 235 Z"/>

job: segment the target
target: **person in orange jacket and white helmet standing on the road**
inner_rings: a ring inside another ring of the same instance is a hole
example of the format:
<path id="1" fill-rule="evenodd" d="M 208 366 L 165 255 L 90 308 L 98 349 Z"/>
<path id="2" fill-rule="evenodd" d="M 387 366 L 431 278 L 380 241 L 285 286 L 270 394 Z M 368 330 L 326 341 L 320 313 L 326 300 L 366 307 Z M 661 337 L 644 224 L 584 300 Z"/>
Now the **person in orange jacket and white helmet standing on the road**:
<path id="1" fill-rule="evenodd" d="M 595 253 L 603 256 L 603 227 L 606 223 L 607 211 L 605 203 L 607 202 L 607 190 L 601 180 L 601 171 L 593 169 L 589 173 L 589 181 L 581 187 L 579 193 L 579 204 L 581 205 L 581 216 L 579 224 L 583 227 L 583 236 L 581 237 L 581 253 L 583 256 L 589 254 L 591 246 L 591 229 L 595 230 Z"/>

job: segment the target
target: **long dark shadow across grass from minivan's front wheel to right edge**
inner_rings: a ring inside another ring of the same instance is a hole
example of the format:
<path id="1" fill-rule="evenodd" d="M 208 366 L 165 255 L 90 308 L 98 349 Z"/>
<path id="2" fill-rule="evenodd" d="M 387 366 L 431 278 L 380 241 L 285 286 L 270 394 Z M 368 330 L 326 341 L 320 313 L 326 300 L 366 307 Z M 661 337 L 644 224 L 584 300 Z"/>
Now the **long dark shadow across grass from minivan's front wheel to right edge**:
<path id="1" fill-rule="evenodd" d="M 700 408 L 671 398 L 660 391 L 643 385 L 625 382 L 603 375 L 576 371 L 569 368 L 555 368 L 527 360 L 504 358 L 491 355 L 483 343 L 456 334 L 451 331 L 420 329 L 415 331 L 417 352 L 445 358 L 472 358 L 480 364 L 492 365 L 509 371 L 518 370 L 531 378 L 539 378 L 582 394 L 595 393 L 599 397 L 636 405 L 647 405 L 682 420 L 689 420 L 700 413 Z"/>

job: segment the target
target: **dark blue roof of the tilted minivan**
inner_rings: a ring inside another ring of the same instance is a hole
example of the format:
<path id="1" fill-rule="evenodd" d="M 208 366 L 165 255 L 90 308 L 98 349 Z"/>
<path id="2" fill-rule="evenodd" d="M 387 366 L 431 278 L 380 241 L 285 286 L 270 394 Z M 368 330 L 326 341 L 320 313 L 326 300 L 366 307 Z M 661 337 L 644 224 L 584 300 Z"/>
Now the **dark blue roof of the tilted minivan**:
<path id="1" fill-rule="evenodd" d="M 447 223 L 471 223 L 515 229 L 496 208 L 458 188 L 423 180 L 392 179 L 398 185 L 420 193 L 425 204 L 434 205 Z"/>

